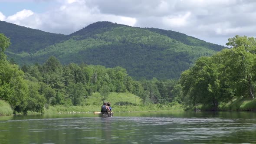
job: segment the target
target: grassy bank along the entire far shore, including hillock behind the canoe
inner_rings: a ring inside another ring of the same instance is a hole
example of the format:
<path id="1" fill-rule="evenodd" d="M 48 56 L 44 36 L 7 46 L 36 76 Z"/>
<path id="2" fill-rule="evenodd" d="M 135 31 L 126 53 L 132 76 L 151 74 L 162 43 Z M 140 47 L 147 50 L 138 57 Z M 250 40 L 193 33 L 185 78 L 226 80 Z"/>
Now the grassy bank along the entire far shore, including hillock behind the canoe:
<path id="1" fill-rule="evenodd" d="M 201 111 L 211 111 L 211 106 L 197 105 L 195 107 L 184 108 L 178 103 L 167 104 L 143 104 L 141 98 L 131 93 L 112 92 L 105 101 L 112 103 L 114 112 L 135 112 L 135 111 L 193 111 L 200 109 Z M 83 105 L 54 105 L 44 108 L 44 114 L 72 114 L 72 113 L 93 113 L 100 111 L 102 105 L 102 97 L 96 92 L 86 98 Z M 256 111 L 256 100 L 236 99 L 229 103 L 220 103 L 218 111 Z M 13 110 L 10 105 L 0 100 L 0 115 L 12 115 Z M 29 111 L 28 114 L 38 114 Z"/>

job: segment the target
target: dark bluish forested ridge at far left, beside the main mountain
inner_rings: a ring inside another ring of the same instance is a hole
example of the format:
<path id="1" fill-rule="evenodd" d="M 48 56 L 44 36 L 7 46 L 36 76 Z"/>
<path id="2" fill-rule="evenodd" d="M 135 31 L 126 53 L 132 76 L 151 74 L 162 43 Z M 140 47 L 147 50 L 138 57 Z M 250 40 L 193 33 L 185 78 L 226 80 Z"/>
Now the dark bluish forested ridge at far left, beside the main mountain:
<path id="1" fill-rule="evenodd" d="M 0 21 L 0 33 L 10 38 L 10 52 L 35 52 L 67 39 L 66 35 L 47 33 L 38 29 L 18 26 L 13 23 Z"/>

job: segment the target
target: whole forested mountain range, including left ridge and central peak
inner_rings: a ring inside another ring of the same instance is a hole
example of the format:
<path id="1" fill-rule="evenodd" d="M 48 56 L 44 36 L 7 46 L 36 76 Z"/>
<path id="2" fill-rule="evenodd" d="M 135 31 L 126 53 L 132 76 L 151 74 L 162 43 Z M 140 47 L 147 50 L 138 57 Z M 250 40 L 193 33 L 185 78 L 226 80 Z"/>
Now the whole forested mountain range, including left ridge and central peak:
<path id="1" fill-rule="evenodd" d="M 224 48 L 171 30 L 111 22 L 92 23 L 70 35 L 1 22 L 0 33 L 11 38 L 7 54 L 20 65 L 43 63 L 56 56 L 64 64 L 121 66 L 136 79 L 178 78 L 200 56 Z"/>

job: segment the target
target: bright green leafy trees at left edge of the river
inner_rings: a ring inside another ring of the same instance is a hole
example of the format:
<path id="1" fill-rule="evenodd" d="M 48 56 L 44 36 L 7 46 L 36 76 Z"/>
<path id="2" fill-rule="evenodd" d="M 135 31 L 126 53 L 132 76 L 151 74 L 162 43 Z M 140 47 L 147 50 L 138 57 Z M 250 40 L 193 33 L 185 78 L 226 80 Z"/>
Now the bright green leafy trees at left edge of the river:
<path id="1" fill-rule="evenodd" d="M 7 101 L 15 112 L 27 111 L 43 112 L 44 97 L 38 94 L 36 82 L 27 81 L 24 72 L 16 64 L 10 64 L 4 50 L 10 41 L 0 34 L 0 99 Z M 30 76 L 27 75 L 29 78 Z M 34 80 L 35 78 L 31 78 Z"/>

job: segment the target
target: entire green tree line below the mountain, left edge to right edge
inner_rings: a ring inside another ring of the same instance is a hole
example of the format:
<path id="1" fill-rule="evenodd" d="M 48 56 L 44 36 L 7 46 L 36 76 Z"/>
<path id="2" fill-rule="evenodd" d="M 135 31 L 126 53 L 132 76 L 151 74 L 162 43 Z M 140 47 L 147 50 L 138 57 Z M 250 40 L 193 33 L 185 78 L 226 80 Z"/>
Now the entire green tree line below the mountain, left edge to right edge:
<path id="1" fill-rule="evenodd" d="M 205 105 L 217 110 L 220 103 L 254 99 L 256 88 L 256 39 L 235 36 L 229 49 L 197 59 L 180 79 L 135 80 L 121 67 L 62 65 L 54 56 L 43 64 L 19 67 L 7 60 L 10 39 L 0 34 L 0 100 L 14 111 L 37 111 L 50 105 L 92 105 L 86 98 L 99 92 L 102 101 L 110 92 L 129 92 L 144 105 L 177 102 L 185 106 Z"/>

